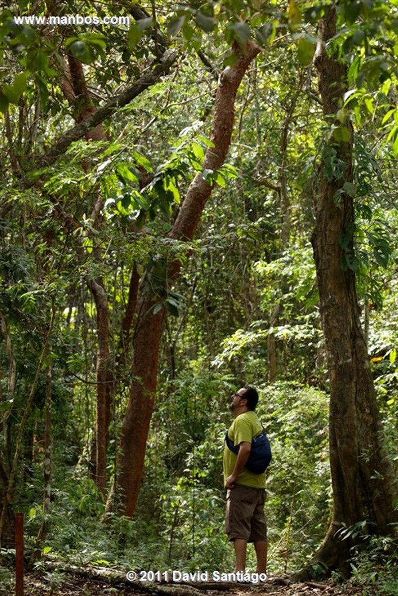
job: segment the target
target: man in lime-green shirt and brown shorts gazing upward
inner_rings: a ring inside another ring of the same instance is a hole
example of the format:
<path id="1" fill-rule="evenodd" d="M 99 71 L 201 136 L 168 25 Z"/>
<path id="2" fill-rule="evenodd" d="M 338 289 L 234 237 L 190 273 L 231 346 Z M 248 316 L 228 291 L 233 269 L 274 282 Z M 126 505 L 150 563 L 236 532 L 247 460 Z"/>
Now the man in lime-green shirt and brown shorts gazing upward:
<path id="1" fill-rule="evenodd" d="M 247 542 L 254 542 L 257 573 L 266 573 L 267 526 L 264 514 L 265 473 L 254 474 L 245 468 L 251 451 L 251 440 L 262 431 L 256 409 L 259 395 L 253 387 L 241 387 L 232 396 L 231 410 L 235 420 L 228 436 L 239 445 L 238 455 L 225 445 L 223 455 L 226 493 L 225 529 L 234 542 L 235 572 L 244 571 Z"/>

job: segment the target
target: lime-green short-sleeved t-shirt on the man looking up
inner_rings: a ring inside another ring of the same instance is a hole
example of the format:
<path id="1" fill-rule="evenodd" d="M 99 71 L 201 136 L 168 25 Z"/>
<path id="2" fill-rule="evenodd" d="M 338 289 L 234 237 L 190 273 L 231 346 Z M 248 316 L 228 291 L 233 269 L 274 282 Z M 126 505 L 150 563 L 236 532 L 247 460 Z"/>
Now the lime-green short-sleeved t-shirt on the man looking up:
<path id="1" fill-rule="evenodd" d="M 228 429 L 228 436 L 234 441 L 234 445 L 240 445 L 242 441 L 251 443 L 251 439 L 257 436 L 257 434 L 260 434 L 261 431 L 262 426 L 256 412 L 249 410 L 235 418 Z M 223 455 L 224 483 L 226 478 L 234 471 L 235 461 L 237 461 L 237 456 L 231 449 L 228 449 L 225 443 Z M 236 483 L 244 486 L 252 486 L 253 488 L 265 488 L 265 480 L 265 472 L 263 474 L 253 474 L 247 468 L 243 468 L 237 477 Z"/>

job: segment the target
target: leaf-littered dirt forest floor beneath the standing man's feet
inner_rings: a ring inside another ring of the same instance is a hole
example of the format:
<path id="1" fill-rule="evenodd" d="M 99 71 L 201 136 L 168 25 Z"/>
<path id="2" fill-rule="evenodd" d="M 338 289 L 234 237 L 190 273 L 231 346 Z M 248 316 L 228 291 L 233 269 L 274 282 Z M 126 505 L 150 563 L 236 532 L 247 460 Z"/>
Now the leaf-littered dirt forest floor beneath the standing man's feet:
<path id="1" fill-rule="evenodd" d="M 5 589 L 5 591 L 4 591 Z M 0 585 L 0 596 L 15 594 L 15 588 Z M 240 583 L 141 583 L 111 579 L 85 578 L 71 573 L 27 573 L 24 596 L 376 596 L 377 586 L 370 591 L 350 583 L 305 582 L 287 583 L 282 578 L 253 585 Z"/>

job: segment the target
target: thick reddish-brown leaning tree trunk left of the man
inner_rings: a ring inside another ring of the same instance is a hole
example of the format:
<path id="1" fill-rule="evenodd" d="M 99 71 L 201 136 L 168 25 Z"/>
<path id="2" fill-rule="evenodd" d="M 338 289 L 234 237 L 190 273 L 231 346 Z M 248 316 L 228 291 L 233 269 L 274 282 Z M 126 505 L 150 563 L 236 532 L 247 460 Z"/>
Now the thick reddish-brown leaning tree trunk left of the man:
<path id="1" fill-rule="evenodd" d="M 260 48 L 249 42 L 245 49 L 234 49 L 237 62 L 226 67 L 219 79 L 214 104 L 212 141 L 214 147 L 207 150 L 203 169 L 216 170 L 225 161 L 231 143 L 234 124 L 235 97 L 242 77 Z M 213 186 L 201 173 L 189 185 L 178 218 L 170 237 L 176 240 L 190 240 L 200 220 Z M 173 280 L 179 272 L 179 264 L 173 263 L 167 270 L 167 280 Z M 135 330 L 134 357 L 132 365 L 133 382 L 130 386 L 129 402 L 122 428 L 120 476 L 117 479 L 117 493 L 121 500 L 120 513 L 132 516 L 141 485 L 144 470 L 145 448 L 154 407 L 156 391 L 158 353 L 164 309 L 154 312 L 156 300 L 145 294 Z"/>

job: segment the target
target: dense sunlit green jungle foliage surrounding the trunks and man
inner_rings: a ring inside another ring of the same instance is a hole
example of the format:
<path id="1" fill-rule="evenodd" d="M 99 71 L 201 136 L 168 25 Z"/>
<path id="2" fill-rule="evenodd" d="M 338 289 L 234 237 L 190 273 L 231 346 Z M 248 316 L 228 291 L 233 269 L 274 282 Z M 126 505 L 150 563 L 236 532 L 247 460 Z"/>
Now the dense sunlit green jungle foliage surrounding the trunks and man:
<path id="1" fill-rule="evenodd" d="M 312 64 L 329 4 L 339 18 L 330 46 L 349 80 L 341 129 L 324 119 Z M 77 13 L 130 15 L 130 24 L 14 18 Z M 269 573 L 300 569 L 331 521 L 330 381 L 311 237 L 322 160 L 327 175 L 342 176 L 329 141 L 345 134 L 346 119 L 355 134 L 344 192 L 356 216 L 353 249 L 340 239 L 341 266 L 356 275 L 395 470 L 398 459 L 396 2 L 20 0 L 2 4 L 0 20 L 0 486 L 3 508 L 12 493 L 11 510 L 25 514 L 27 552 L 126 570 L 231 569 L 223 437 L 231 393 L 251 384 L 273 452 Z M 231 46 L 253 38 L 261 52 L 238 90 L 226 163 L 203 171 L 217 77 L 234 67 Z M 169 70 L 98 124 L 101 138 L 83 134 L 56 147 L 172 51 Z M 79 95 L 76 75 L 71 99 L 65 81 L 74 62 L 85 88 Z M 194 237 L 176 240 L 170 230 L 198 172 L 212 194 Z M 174 262 L 179 277 L 169 278 Z M 128 517 L 105 510 L 135 380 L 139 305 L 129 341 L 122 331 L 134 272 L 167 318 L 139 500 Z M 111 381 L 98 381 L 98 287 Z M 103 491 L 94 453 L 97 389 L 108 382 Z M 365 520 L 345 532 L 361 538 L 351 561 L 357 582 L 396 593 L 396 539 L 369 533 Z M 11 555 L 2 550 L 4 585 Z"/>

